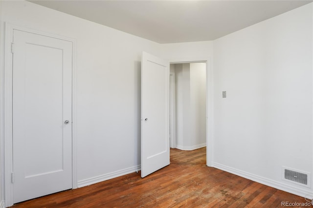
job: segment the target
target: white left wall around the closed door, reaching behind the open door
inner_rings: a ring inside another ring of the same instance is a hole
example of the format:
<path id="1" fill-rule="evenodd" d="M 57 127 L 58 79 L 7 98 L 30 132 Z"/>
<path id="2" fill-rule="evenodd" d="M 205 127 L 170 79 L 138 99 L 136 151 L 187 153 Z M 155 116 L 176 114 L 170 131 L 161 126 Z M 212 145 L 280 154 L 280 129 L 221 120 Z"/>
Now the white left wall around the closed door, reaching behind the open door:
<path id="1" fill-rule="evenodd" d="M 141 52 L 158 56 L 160 44 L 27 1 L 1 1 L 1 11 L 1 35 L 3 23 L 9 22 L 77 42 L 79 186 L 134 171 L 140 165 Z"/>

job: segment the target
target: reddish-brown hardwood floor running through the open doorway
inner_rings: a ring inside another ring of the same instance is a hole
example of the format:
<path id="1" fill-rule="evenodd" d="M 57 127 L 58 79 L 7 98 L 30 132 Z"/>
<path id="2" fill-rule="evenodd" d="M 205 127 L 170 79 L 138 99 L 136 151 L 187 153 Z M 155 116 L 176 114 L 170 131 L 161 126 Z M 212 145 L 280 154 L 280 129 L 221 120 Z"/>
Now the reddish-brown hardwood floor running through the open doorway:
<path id="1" fill-rule="evenodd" d="M 108 181 L 25 201 L 13 208 L 243 208 L 281 207 L 305 199 L 205 165 L 205 147 L 171 149 L 171 164 L 140 177 Z"/>

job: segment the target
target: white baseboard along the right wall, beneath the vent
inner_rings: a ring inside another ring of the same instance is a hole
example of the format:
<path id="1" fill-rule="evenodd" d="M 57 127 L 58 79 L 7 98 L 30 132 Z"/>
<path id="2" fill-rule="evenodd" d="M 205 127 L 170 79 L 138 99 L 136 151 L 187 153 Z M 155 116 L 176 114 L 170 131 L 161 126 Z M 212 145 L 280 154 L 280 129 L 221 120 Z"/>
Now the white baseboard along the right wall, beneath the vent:
<path id="1" fill-rule="evenodd" d="M 279 190 L 283 190 L 283 191 L 286 191 L 286 192 L 289 192 L 289 193 L 292 193 L 292 194 L 295 194 L 295 195 L 298 195 L 301 197 L 305 197 L 305 198 L 310 199 L 310 200 L 313 199 L 312 190 L 309 190 L 308 188 L 302 188 L 302 186 L 301 187 L 295 187 L 295 186 L 292 186 L 293 184 L 287 185 L 287 184 L 281 183 L 279 181 L 274 181 L 274 180 L 271 180 L 268 178 L 264 178 L 264 177 L 261 177 L 261 176 L 255 175 L 255 174 L 248 173 L 246 171 L 242 171 L 242 170 L 232 168 L 229 166 L 224 166 L 222 164 L 218 164 L 218 163 L 214 163 L 214 162 L 212 163 L 212 167 L 216 167 L 216 168 L 224 170 L 226 172 L 229 172 L 229 173 L 250 179 L 252 181 L 258 182 L 260 184 L 264 184 L 264 185 L 269 186 L 269 187 L 277 188 Z"/>

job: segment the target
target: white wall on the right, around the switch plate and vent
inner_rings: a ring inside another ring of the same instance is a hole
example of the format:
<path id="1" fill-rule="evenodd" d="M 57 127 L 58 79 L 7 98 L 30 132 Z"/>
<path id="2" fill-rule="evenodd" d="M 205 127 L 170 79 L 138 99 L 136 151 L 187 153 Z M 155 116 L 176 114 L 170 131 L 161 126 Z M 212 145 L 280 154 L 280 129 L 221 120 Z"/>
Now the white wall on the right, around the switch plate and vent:
<path id="1" fill-rule="evenodd" d="M 311 198 L 282 166 L 313 173 L 312 6 L 214 41 L 213 127 L 213 166 Z"/>

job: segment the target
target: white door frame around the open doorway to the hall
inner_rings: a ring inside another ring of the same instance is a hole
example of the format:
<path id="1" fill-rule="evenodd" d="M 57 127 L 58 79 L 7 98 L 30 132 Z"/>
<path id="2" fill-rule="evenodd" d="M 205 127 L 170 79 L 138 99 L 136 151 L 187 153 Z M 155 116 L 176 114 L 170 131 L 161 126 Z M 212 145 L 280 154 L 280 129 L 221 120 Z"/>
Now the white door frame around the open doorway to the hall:
<path id="1" fill-rule="evenodd" d="M 213 71 L 211 57 L 206 58 L 190 58 L 190 59 L 174 59 L 169 60 L 170 64 L 174 63 L 206 63 L 206 166 L 212 167 L 213 156 Z M 175 121 L 173 122 L 175 123 Z M 172 140 L 172 138 L 171 138 Z M 171 141 L 172 143 L 172 141 Z"/>

